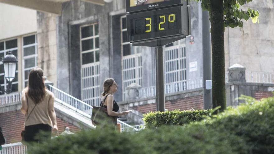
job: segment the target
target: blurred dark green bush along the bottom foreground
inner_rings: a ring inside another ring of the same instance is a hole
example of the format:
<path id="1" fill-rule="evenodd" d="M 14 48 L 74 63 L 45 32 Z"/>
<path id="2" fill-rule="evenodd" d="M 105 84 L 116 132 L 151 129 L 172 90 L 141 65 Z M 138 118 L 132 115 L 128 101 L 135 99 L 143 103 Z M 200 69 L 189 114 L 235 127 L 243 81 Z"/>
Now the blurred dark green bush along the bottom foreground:
<path id="1" fill-rule="evenodd" d="M 234 147 L 234 144 L 236 147 Z M 235 135 L 215 133 L 205 126 L 184 129 L 165 126 L 139 133 L 90 130 L 61 136 L 33 149 L 31 154 L 181 154 L 235 153 L 246 151 Z"/>

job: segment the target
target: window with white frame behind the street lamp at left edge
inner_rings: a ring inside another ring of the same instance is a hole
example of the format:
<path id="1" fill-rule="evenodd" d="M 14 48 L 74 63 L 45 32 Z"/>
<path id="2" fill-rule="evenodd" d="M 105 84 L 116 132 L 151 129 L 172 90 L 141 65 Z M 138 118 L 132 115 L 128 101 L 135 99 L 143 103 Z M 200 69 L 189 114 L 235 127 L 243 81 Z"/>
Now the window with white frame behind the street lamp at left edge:
<path id="1" fill-rule="evenodd" d="M 7 89 L 8 82 L 5 79 L 4 66 L 2 63 L 2 57 L 4 57 L 8 51 L 12 51 L 12 54 L 17 57 L 17 38 L 10 40 L 0 41 L 0 84 Z M 18 91 L 18 64 L 16 65 L 15 78 L 12 80 L 12 92 Z"/>

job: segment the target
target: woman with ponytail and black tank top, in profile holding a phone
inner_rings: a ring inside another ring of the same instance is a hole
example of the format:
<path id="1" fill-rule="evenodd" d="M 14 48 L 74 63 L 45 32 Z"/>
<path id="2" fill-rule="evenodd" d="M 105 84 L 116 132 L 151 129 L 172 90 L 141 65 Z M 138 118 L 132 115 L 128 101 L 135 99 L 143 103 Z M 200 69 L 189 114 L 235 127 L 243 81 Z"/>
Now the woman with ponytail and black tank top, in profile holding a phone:
<path id="1" fill-rule="evenodd" d="M 119 106 L 116 103 L 116 101 L 114 100 L 114 93 L 117 91 L 118 85 L 114 81 L 114 79 L 107 78 L 104 81 L 103 86 L 104 86 L 104 92 L 102 93 L 102 96 L 105 96 L 104 97 L 105 101 L 102 101 L 104 103 L 103 107 L 107 108 L 107 114 L 109 116 L 114 116 L 114 118 L 116 119 L 116 121 L 114 122 L 114 125 L 113 125 L 115 127 L 117 124 L 117 116 L 128 114 L 128 112 L 125 112 L 125 111 L 118 112 Z M 101 105 L 102 104 L 100 104 L 100 106 Z"/>

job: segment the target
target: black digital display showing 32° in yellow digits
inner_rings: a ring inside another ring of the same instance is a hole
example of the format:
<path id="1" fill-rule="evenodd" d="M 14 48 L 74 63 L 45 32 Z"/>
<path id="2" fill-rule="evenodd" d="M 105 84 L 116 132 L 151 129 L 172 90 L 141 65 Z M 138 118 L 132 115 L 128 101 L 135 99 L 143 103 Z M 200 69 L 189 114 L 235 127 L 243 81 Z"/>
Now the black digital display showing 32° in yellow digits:
<path id="1" fill-rule="evenodd" d="M 127 15 L 129 42 L 184 34 L 183 7 L 170 7 Z M 187 13 L 187 12 L 186 12 Z M 188 13 L 184 14 L 188 19 Z M 186 23 L 188 25 L 188 22 Z M 188 27 L 187 27 L 188 28 Z M 188 31 L 187 31 L 188 32 Z"/>

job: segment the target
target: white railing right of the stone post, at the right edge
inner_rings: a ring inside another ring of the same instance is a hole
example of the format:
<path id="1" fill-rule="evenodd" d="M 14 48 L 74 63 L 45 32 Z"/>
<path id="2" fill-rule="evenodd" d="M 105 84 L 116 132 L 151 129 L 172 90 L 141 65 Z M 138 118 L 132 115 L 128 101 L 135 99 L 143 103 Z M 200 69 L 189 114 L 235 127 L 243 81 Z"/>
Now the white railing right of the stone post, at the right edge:
<path id="1" fill-rule="evenodd" d="M 274 72 L 245 72 L 246 82 L 274 83 Z"/>

